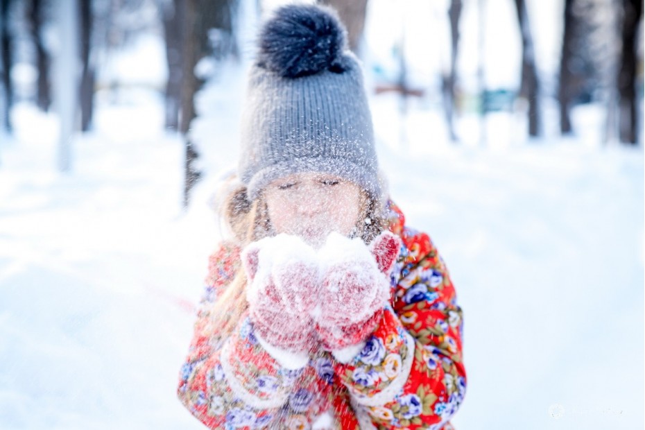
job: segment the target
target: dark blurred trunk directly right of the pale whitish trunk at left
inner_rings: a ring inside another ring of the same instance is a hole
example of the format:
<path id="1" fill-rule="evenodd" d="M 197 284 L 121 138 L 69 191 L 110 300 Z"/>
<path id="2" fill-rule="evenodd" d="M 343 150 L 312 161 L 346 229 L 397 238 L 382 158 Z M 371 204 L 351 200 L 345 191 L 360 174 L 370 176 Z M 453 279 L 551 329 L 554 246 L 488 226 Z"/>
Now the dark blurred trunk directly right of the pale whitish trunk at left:
<path id="1" fill-rule="evenodd" d="M 78 2 L 80 19 L 80 61 L 83 74 L 80 76 L 80 129 L 89 130 L 94 114 L 94 66 L 92 65 L 92 1 Z"/>

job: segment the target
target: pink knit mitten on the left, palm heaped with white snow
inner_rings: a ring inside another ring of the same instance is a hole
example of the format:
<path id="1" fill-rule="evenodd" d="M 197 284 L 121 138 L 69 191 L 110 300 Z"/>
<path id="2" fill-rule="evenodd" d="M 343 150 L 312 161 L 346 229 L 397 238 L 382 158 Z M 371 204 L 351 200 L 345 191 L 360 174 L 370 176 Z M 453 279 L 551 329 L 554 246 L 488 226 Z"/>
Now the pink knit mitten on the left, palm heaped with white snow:
<path id="1" fill-rule="evenodd" d="M 297 236 L 279 234 L 250 243 L 241 257 L 255 336 L 269 354 L 304 360 L 316 344 L 309 315 L 318 289 L 315 251 Z"/>

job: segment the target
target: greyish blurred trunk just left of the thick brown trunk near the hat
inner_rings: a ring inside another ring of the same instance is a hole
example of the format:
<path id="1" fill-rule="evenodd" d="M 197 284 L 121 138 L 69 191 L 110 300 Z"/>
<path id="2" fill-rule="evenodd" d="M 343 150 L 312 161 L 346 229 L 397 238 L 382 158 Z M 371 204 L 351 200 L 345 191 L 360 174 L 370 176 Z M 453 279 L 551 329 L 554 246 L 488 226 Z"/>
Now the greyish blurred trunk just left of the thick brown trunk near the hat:
<path id="1" fill-rule="evenodd" d="M 164 10 L 164 35 L 166 39 L 166 62 L 168 81 L 166 82 L 166 128 L 177 130 L 181 107 L 182 89 L 182 35 L 184 7 L 181 1 L 169 3 Z"/>

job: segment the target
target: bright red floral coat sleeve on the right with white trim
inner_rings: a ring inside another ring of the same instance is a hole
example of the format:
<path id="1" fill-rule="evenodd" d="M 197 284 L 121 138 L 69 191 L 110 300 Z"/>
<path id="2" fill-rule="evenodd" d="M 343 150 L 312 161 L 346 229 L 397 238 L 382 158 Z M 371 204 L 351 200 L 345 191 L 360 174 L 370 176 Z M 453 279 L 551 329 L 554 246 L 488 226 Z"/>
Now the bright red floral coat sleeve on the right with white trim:
<path id="1" fill-rule="evenodd" d="M 465 395 L 461 309 L 429 236 L 399 234 L 393 304 L 362 352 L 335 370 L 359 418 L 377 428 L 447 428 Z"/>

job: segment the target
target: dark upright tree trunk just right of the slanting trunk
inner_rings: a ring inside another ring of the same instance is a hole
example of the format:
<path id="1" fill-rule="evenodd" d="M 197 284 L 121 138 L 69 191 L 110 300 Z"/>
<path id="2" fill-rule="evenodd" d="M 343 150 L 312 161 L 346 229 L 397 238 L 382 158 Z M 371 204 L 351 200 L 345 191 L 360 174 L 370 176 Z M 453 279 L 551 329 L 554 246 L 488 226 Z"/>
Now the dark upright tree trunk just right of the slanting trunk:
<path id="1" fill-rule="evenodd" d="M 574 76 L 571 73 L 570 59 L 574 51 L 574 33 L 576 17 L 574 17 L 574 0 L 565 0 L 565 31 L 562 35 L 562 56 L 560 58 L 560 87 L 558 102 L 560 103 L 560 133 L 571 132 L 571 99 L 574 96 Z"/>

